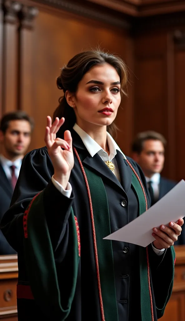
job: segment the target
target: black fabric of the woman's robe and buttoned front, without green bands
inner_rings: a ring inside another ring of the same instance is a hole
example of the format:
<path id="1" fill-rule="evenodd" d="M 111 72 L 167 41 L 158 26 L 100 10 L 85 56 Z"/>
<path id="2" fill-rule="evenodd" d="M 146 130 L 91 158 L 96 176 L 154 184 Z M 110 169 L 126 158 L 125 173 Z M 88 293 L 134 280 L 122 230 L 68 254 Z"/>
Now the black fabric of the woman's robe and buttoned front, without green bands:
<path id="1" fill-rule="evenodd" d="M 138 200 L 132 187 L 132 170 L 123 155 L 117 151 L 116 160 L 121 178 L 121 183 L 119 183 L 98 154 L 94 157 L 90 156 L 75 131 L 72 131 L 72 138 L 73 145 L 82 155 L 83 165 L 100 176 L 103 181 L 109 205 L 110 229 L 111 232 L 114 232 L 139 215 Z M 12 198 L 12 206 L 4 215 L 1 228 L 8 242 L 18 252 L 18 283 L 28 285 L 30 279 L 25 263 L 25 255 L 28 254 L 25 254 L 23 241 L 23 215 L 33 197 L 43 191 L 44 215 L 52 242 L 61 301 L 65 301 L 66 292 L 62 290 L 68 286 L 68 278 L 63 279 L 63 267 L 67 273 L 68 218 L 72 206 L 80 230 L 81 256 L 76 291 L 66 320 L 86 321 L 92 319 L 101 321 L 89 200 L 79 162 L 76 155 L 74 156 L 75 165 L 69 179 L 72 185 L 72 195 L 67 198 L 51 182 L 53 166 L 47 148 L 43 147 L 28 153 L 22 162 L 20 176 Z M 144 175 L 132 159 L 129 161 L 141 179 L 149 203 L 149 193 Z M 126 201 L 126 206 L 122 206 L 122 201 Z M 118 320 L 132 321 L 137 315 L 137 321 L 141 321 L 139 247 L 125 242 L 112 241 L 112 249 Z M 167 249 L 162 256 L 157 256 L 151 245 L 148 247 L 148 251 L 154 320 L 157 321 L 157 318 L 164 313 L 165 304 L 169 300 L 169 293 L 172 289 L 173 267 L 171 265 L 173 258 L 171 249 Z M 160 284 L 161 288 L 159 288 Z M 47 311 L 44 312 L 40 308 L 38 301 L 21 297 L 18 298 L 17 303 L 19 321 L 51 320 L 51 318 L 47 318 Z"/>

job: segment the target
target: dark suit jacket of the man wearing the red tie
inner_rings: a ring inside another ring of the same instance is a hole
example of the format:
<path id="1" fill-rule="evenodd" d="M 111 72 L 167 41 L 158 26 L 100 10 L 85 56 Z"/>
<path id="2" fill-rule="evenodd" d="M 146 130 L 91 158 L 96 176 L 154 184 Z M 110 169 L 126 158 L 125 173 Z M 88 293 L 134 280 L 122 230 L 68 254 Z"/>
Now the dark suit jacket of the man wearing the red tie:
<path id="1" fill-rule="evenodd" d="M 4 213 L 9 209 L 13 195 L 11 182 L 6 177 L 4 169 L 0 163 L 0 221 Z M 15 250 L 9 245 L 0 230 L 0 255 L 16 254 Z"/>

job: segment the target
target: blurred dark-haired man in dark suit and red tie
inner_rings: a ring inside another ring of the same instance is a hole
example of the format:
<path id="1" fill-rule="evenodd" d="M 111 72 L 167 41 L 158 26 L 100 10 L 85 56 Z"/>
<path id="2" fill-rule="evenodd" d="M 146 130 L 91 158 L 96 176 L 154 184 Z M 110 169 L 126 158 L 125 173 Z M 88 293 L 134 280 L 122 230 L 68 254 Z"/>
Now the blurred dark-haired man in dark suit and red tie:
<path id="1" fill-rule="evenodd" d="M 31 141 L 33 120 L 23 111 L 5 114 L 0 122 L 0 221 L 8 210 L 22 159 Z M 0 255 L 16 253 L 0 231 Z"/>

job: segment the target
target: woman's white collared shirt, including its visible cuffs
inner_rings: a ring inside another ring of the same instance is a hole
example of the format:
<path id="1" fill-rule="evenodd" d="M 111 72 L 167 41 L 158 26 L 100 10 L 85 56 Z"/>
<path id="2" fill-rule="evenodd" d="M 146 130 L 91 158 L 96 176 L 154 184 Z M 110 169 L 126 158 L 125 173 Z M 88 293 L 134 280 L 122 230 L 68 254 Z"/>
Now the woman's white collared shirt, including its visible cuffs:
<path id="1" fill-rule="evenodd" d="M 103 161 L 110 160 L 112 163 L 115 165 L 115 169 L 112 171 L 114 175 L 117 177 L 117 179 L 120 181 L 120 176 L 119 176 L 119 170 L 117 166 L 117 161 L 116 161 L 116 154 L 118 150 L 119 152 L 122 153 L 123 157 L 126 159 L 124 153 L 120 150 L 119 146 L 117 143 L 114 141 L 112 136 L 107 132 L 107 143 L 109 145 L 109 151 L 110 154 L 108 155 L 107 152 L 105 152 L 102 147 L 96 143 L 90 135 L 88 135 L 82 128 L 80 128 L 77 124 L 74 125 L 73 129 L 76 131 L 76 133 L 80 136 L 81 140 L 83 141 L 87 151 L 89 154 L 93 157 L 96 153 L 101 157 Z M 68 198 L 71 196 L 72 192 L 72 187 L 71 184 L 68 182 L 66 190 L 62 187 L 60 183 L 58 183 L 52 176 L 52 183 L 53 185 L 62 193 L 63 195 L 67 196 Z M 153 247 L 154 252 L 157 255 L 162 255 L 165 249 L 163 250 L 158 250 L 157 248 Z"/>

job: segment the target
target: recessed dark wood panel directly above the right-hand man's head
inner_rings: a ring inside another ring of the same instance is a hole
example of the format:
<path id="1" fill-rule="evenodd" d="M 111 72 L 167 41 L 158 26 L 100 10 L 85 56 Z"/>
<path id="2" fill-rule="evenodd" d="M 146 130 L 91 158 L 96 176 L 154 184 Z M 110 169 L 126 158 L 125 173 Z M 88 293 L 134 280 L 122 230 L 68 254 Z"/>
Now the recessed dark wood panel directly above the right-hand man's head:
<path id="1" fill-rule="evenodd" d="M 164 133 L 164 77 L 163 57 L 138 60 L 135 69 L 135 132 L 156 130 Z"/>

